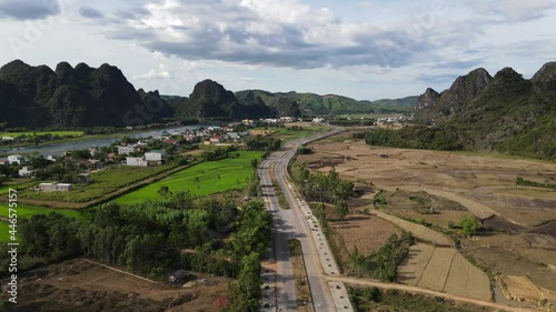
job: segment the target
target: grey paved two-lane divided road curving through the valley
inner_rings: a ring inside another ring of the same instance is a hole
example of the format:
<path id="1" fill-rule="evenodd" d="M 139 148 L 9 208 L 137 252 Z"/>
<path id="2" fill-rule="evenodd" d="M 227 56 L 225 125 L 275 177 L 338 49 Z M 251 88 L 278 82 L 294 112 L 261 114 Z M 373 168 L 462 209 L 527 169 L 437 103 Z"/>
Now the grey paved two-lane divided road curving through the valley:
<path id="1" fill-rule="evenodd" d="M 344 283 L 329 282 L 326 279 L 326 274 L 338 274 L 334 256 L 318 224 L 312 223 L 315 219 L 311 218 L 309 208 L 288 182 L 287 172 L 288 163 L 301 143 L 332 135 L 339 131 L 340 129 L 335 129 L 327 133 L 288 142 L 259 167 L 265 201 L 275 220 L 276 311 L 297 310 L 288 248 L 288 241 L 294 238 L 301 242 L 315 311 L 353 311 Z M 279 208 L 270 179 L 270 170 L 274 170 L 272 173 L 290 209 Z"/>

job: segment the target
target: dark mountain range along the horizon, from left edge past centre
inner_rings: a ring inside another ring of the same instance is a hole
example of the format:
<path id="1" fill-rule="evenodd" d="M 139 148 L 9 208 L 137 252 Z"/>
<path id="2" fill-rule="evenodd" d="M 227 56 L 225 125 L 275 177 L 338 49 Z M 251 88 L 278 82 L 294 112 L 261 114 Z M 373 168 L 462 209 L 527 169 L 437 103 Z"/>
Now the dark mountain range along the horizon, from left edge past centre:
<path id="1" fill-rule="evenodd" d="M 197 83 L 189 97 L 136 90 L 113 66 L 67 62 L 54 70 L 20 60 L 0 68 L 0 123 L 26 128 L 135 125 L 178 120 L 270 118 L 329 113 L 407 112 L 417 98 L 357 101 L 340 95 L 231 92 L 212 80 Z"/>

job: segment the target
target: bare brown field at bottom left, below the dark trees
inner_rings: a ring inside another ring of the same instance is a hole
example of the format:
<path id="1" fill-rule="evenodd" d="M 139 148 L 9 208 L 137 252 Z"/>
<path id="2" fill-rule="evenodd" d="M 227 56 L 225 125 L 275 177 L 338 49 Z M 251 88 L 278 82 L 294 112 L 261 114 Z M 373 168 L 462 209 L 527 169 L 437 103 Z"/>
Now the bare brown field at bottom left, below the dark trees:
<path id="1" fill-rule="evenodd" d="M 83 260 L 21 274 L 18 311 L 215 311 L 228 279 L 195 274 L 190 288 L 153 283 Z M 4 295 L 3 293 L 2 295 Z"/>

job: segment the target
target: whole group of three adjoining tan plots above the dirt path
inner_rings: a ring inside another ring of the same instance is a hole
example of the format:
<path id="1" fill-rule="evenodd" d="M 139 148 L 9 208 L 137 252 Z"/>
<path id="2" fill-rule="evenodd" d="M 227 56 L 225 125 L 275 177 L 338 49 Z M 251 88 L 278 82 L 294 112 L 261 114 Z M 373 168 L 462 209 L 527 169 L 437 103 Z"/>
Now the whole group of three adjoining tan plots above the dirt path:
<path id="1" fill-rule="evenodd" d="M 487 274 L 453 248 L 413 245 L 408 258 L 398 268 L 398 281 L 477 300 L 492 298 Z"/>

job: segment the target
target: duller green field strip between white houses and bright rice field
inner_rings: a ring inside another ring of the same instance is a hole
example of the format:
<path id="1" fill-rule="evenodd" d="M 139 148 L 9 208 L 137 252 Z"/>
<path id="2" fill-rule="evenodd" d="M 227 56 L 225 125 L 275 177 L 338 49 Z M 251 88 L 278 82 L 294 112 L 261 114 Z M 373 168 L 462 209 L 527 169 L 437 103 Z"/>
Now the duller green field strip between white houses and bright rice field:
<path id="1" fill-rule="evenodd" d="M 20 192 L 20 197 L 48 201 L 86 202 L 117 191 L 137 181 L 145 180 L 173 167 L 176 165 L 110 167 L 91 173 L 92 182 L 90 184 L 76 184 L 71 192 L 37 192 L 33 190 L 26 190 Z"/>

